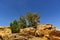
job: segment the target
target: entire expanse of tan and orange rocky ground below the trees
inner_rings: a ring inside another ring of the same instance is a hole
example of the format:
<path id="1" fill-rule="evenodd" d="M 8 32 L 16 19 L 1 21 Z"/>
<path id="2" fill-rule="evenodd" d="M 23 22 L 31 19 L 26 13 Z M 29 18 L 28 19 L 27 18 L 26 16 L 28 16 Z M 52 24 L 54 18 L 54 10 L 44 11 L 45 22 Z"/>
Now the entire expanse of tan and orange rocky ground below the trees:
<path id="1" fill-rule="evenodd" d="M 11 31 L 0 33 L 0 40 L 60 40 L 60 31 L 51 24 L 40 24 L 37 28 L 29 27 L 20 29 L 20 33 Z"/>

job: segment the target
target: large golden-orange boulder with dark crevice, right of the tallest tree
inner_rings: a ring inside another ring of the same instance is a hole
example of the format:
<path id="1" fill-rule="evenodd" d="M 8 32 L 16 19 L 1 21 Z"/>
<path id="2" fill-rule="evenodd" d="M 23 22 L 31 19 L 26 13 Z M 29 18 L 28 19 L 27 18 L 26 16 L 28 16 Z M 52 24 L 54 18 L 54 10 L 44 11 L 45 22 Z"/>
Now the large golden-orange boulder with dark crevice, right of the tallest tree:
<path id="1" fill-rule="evenodd" d="M 56 30 L 56 28 L 51 24 L 40 24 L 37 26 L 35 35 L 44 34 L 49 35 L 49 33 L 53 30 Z"/>

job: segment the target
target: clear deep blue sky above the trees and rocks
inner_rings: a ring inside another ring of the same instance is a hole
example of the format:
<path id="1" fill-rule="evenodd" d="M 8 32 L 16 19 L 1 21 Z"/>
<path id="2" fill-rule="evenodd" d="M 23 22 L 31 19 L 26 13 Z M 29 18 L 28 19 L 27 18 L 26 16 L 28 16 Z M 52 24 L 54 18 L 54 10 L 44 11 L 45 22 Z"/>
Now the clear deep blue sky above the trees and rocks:
<path id="1" fill-rule="evenodd" d="M 37 12 L 41 24 L 53 24 L 60 29 L 60 0 L 0 0 L 0 26 L 9 26 L 26 12 Z"/>

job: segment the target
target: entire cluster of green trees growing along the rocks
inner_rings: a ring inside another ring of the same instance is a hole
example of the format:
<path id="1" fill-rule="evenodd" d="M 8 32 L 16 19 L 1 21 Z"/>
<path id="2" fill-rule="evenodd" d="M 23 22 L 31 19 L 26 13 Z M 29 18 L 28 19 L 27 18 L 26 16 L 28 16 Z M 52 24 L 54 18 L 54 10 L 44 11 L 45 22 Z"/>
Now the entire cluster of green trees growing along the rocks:
<path id="1" fill-rule="evenodd" d="M 27 27 L 26 21 L 28 21 L 30 27 L 36 27 L 39 22 L 39 19 L 40 16 L 37 13 L 31 13 L 31 12 L 28 12 L 26 14 L 26 17 L 20 16 L 19 21 L 14 20 L 12 23 L 10 23 L 12 33 L 19 32 L 20 28 L 26 28 Z"/>

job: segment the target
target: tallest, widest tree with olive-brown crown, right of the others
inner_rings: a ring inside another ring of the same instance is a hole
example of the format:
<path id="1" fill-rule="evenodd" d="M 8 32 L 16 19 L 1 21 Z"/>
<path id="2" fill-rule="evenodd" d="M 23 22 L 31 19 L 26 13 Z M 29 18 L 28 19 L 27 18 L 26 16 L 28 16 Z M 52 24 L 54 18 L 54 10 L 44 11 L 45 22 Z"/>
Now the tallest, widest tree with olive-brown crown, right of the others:
<path id="1" fill-rule="evenodd" d="M 28 12 L 26 18 L 29 22 L 29 26 L 36 27 L 39 22 L 40 16 L 37 13 Z"/>

